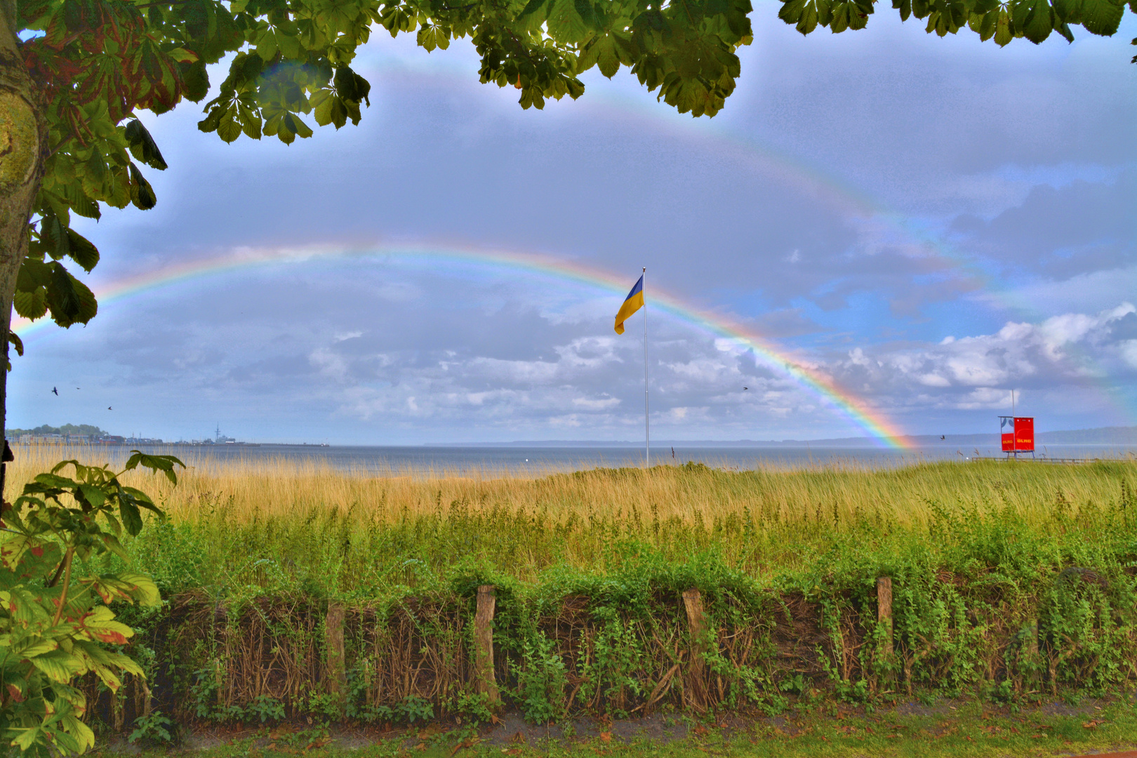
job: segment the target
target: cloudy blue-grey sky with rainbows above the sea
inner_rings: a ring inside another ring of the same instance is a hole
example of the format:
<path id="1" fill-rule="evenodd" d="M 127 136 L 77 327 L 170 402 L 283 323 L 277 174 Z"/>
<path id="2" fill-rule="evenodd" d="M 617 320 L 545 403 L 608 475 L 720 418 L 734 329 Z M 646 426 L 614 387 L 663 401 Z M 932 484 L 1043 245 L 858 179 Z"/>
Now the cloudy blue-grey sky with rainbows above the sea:
<path id="1" fill-rule="evenodd" d="M 1134 16 L 999 49 L 756 5 L 714 118 L 626 69 L 523 110 L 468 43 L 387 34 L 359 126 L 140 114 L 158 205 L 77 220 L 99 314 L 17 327 L 8 426 L 642 440 L 642 315 L 613 317 L 644 267 L 656 439 L 995 432 L 1012 392 L 1041 431 L 1137 424 Z"/>

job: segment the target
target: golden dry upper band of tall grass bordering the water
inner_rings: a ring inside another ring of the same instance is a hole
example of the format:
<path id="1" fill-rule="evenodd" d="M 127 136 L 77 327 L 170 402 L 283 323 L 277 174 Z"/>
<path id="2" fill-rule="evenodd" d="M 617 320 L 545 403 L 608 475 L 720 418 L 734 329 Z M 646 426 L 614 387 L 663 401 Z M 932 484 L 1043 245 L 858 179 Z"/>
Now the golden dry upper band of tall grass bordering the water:
<path id="1" fill-rule="evenodd" d="M 64 458 L 85 464 L 124 458 L 125 449 L 22 447 L 8 465 L 8 499 L 36 473 Z M 491 508 L 547 513 L 556 520 L 575 514 L 620 520 L 633 513 L 661 520 L 713 522 L 744 511 L 765 522 L 829 520 L 839 526 L 854 516 L 872 515 L 901 528 L 920 526 L 930 502 L 966 507 L 984 514 L 993 508 L 1028 522 L 1049 517 L 1055 505 L 1076 516 L 1084 503 L 1117 501 L 1120 482 L 1137 481 L 1137 459 L 1081 465 L 1040 463 L 914 463 L 898 468 L 869 468 L 855 460 L 805 468 L 764 466 L 753 472 L 724 472 L 677 466 L 642 469 L 594 469 L 576 473 L 533 470 L 529 475 L 480 472 L 402 470 L 376 475 L 342 470 L 325 463 L 283 457 L 217 460 L 173 450 L 188 468 L 174 488 L 165 477 L 131 472 L 124 480 L 151 493 L 174 520 L 196 520 L 202 503 L 223 505 L 233 524 L 254 519 L 305 517 L 313 509 L 351 510 L 368 519 L 390 522 L 438 515 L 451 503 L 466 513 Z"/>

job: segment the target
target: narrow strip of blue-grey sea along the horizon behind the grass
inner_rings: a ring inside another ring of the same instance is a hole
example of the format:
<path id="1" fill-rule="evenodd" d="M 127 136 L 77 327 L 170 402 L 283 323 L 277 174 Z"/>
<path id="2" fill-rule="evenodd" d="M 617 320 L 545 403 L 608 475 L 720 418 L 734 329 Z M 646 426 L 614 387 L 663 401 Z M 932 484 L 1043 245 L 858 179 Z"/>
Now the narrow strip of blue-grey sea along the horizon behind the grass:
<path id="1" fill-rule="evenodd" d="M 223 461 L 284 460 L 297 463 L 326 463 L 341 469 L 360 472 L 501 472 L 540 474 L 549 470 L 580 470 L 596 467 L 642 466 L 642 448 L 547 448 L 547 447 L 318 447 L 318 445 L 200 445 L 150 447 L 147 452 L 175 455 L 186 464 Z M 715 447 L 683 448 L 670 445 L 653 448 L 652 463 L 683 464 L 698 461 L 715 468 L 736 470 L 760 466 L 800 468 L 824 464 L 845 464 L 873 468 L 903 466 L 921 460 L 964 461 L 976 453 L 981 457 L 1003 457 L 995 445 L 933 445 L 914 450 L 886 450 L 869 447 L 812 448 L 794 447 Z M 128 447 L 107 447 L 82 450 L 80 458 L 94 463 L 121 463 L 130 455 Z M 16 455 L 19 455 L 17 448 Z M 1137 455 L 1137 449 L 1123 445 L 1052 445 L 1035 453 L 1041 458 L 1126 458 Z"/>

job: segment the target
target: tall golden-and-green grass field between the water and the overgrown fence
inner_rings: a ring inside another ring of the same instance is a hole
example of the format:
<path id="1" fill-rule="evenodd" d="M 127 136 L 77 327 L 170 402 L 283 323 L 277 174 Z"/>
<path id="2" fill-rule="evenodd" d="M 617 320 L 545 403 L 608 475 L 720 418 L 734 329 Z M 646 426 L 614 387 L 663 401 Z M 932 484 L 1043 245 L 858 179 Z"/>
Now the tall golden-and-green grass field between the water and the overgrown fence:
<path id="1" fill-rule="evenodd" d="M 9 499 L 64 457 L 96 463 L 100 455 L 122 455 L 90 448 L 19 452 L 9 465 Z M 752 472 L 689 465 L 532 476 L 375 475 L 283 458 L 217 461 L 192 450 L 185 463 L 176 488 L 139 472 L 125 477 L 169 515 L 132 543 L 146 567 L 172 588 L 300 583 L 340 592 L 415 585 L 471 559 L 523 580 L 558 565 L 601 570 L 629 542 L 675 560 L 715 550 L 765 575 L 805 565 L 837 544 L 928 543 L 931 526 L 945 518 L 1013 523 L 1038 535 L 1090 530 L 1126 507 L 1123 493 L 1137 483 L 1131 458 L 886 469 L 847 461 Z"/>

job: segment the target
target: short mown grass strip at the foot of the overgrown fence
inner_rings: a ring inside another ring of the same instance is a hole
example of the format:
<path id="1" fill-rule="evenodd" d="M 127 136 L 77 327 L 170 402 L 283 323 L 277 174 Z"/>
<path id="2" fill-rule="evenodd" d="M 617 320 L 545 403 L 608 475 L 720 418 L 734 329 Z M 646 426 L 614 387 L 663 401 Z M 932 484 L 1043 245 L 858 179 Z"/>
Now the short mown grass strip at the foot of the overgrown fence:
<path id="1" fill-rule="evenodd" d="M 982 756 L 1071 756 L 1137 748 L 1137 709 L 1131 702 L 1052 702 L 1022 708 L 977 702 L 931 707 L 902 705 L 865 714 L 820 705 L 782 717 L 730 715 L 691 722 L 665 715 L 629 722 L 581 719 L 548 730 L 512 716 L 480 728 L 431 724 L 420 728 L 363 734 L 302 725 L 243 733 L 193 735 L 182 750 L 201 758 L 273 758 L 308 753 L 391 758 L 475 756 L 592 756 L 614 758 L 700 758 L 707 755 L 770 758 L 898 756 L 963 758 Z M 719 722 L 719 723 L 715 723 Z M 546 734 L 549 738 L 546 738 Z M 134 753 L 118 745 L 105 756 Z M 168 755 L 169 748 L 146 753 Z"/>

